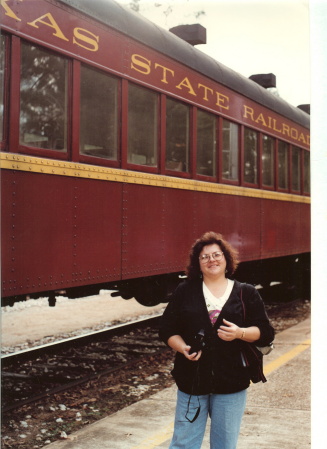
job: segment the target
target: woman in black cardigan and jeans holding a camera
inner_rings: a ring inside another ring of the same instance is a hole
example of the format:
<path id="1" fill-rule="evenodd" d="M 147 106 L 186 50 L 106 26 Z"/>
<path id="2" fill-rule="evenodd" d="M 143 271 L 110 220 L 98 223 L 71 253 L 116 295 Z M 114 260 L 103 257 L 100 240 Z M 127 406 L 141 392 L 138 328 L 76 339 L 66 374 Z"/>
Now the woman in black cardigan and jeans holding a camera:
<path id="1" fill-rule="evenodd" d="M 237 264 L 236 251 L 220 234 L 204 234 L 191 249 L 188 279 L 163 314 L 160 337 L 176 351 L 178 387 L 169 449 L 200 448 L 208 414 L 210 448 L 236 448 L 250 385 L 242 345 L 274 339 L 257 290 L 230 279 Z M 196 343 L 200 347 L 191 349 Z"/>

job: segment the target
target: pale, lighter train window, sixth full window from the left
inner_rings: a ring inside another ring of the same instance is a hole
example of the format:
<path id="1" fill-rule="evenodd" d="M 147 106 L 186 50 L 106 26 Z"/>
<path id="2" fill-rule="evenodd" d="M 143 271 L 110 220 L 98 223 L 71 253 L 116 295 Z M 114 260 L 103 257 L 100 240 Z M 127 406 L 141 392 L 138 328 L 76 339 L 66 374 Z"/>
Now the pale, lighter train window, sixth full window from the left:
<path id="1" fill-rule="evenodd" d="M 229 181 L 239 178 L 239 127 L 236 123 L 223 120 L 223 173 Z"/>

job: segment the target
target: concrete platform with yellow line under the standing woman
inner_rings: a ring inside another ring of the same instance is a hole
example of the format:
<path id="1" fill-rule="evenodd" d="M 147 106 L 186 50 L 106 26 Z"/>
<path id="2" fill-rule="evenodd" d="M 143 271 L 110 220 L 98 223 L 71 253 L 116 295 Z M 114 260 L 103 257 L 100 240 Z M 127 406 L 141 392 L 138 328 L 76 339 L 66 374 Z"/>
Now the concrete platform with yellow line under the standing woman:
<path id="1" fill-rule="evenodd" d="M 268 382 L 248 390 L 238 449 L 310 447 L 310 334 L 308 319 L 277 335 L 275 350 L 265 357 Z M 168 388 L 47 448 L 167 449 L 175 397 L 176 388 Z M 202 448 L 209 448 L 208 431 Z"/>

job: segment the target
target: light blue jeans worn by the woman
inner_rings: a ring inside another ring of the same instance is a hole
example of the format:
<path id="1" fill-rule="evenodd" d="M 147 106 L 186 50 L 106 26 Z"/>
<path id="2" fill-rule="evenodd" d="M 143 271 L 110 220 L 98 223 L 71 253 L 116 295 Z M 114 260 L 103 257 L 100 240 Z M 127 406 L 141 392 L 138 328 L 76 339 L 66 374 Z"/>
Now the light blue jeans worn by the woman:
<path id="1" fill-rule="evenodd" d="M 236 449 L 245 404 L 246 390 L 200 396 L 190 396 L 178 390 L 174 434 L 169 449 L 200 449 L 208 415 L 211 418 L 210 449 Z M 199 406 L 199 415 L 190 422 Z"/>

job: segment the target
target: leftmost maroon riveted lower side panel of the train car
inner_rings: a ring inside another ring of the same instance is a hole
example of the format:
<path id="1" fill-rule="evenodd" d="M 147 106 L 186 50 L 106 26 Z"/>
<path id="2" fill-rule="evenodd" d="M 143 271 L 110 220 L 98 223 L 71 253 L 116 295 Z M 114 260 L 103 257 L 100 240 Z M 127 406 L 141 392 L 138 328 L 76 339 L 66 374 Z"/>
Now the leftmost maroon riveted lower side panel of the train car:
<path id="1" fill-rule="evenodd" d="M 49 175 L 2 172 L 2 207 L 11 211 L 2 214 L 4 295 L 71 284 L 72 195 L 70 180 L 62 181 L 58 184 Z"/>

